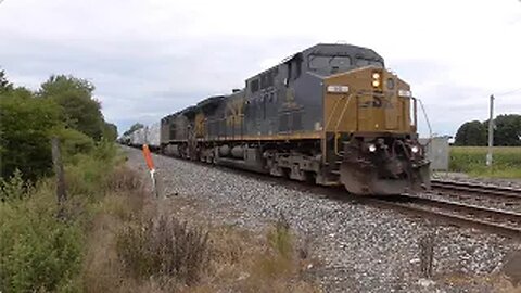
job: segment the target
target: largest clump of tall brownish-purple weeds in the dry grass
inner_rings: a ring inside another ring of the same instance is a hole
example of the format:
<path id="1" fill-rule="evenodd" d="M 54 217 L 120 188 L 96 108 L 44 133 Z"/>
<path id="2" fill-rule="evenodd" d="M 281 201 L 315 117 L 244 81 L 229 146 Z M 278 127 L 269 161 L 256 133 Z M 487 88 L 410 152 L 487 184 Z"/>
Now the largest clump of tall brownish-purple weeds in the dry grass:
<path id="1" fill-rule="evenodd" d="M 209 262 L 208 233 L 174 217 L 149 219 L 117 237 L 117 254 L 139 279 L 173 277 L 193 284 Z"/>

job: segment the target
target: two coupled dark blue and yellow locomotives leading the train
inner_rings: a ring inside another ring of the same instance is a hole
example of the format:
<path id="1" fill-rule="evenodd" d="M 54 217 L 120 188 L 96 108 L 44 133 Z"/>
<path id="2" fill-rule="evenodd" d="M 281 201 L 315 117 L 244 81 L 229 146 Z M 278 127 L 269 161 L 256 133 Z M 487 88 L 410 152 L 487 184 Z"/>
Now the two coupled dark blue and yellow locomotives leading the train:
<path id="1" fill-rule="evenodd" d="M 316 44 L 162 118 L 161 150 L 355 194 L 430 187 L 409 85 L 351 44 Z"/>

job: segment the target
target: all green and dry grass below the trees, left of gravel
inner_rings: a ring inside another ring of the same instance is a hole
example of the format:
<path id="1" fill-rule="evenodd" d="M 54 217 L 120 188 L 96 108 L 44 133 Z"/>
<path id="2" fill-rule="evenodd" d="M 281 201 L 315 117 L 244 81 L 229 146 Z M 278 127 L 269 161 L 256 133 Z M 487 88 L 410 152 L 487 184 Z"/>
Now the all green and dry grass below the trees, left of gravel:
<path id="1" fill-rule="evenodd" d="M 152 196 L 114 145 L 67 162 L 65 219 L 53 178 L 0 182 L 0 292 L 318 291 L 283 217 L 258 234 L 173 213 L 198 206 Z"/>

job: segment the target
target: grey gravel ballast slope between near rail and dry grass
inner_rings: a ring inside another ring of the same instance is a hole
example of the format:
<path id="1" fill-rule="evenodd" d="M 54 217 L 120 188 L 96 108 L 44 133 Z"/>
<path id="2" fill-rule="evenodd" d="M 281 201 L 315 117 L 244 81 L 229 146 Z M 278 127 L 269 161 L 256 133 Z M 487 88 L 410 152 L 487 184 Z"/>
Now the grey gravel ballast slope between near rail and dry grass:
<path id="1" fill-rule="evenodd" d="M 139 150 L 128 165 L 148 176 Z M 491 292 L 519 242 L 440 226 L 396 211 L 329 196 L 321 189 L 153 155 L 162 195 L 203 202 L 213 221 L 262 231 L 284 215 L 317 264 L 307 271 L 325 292 Z M 433 273 L 423 278 L 420 241 L 433 239 Z M 487 279 L 486 279 L 487 280 Z"/>

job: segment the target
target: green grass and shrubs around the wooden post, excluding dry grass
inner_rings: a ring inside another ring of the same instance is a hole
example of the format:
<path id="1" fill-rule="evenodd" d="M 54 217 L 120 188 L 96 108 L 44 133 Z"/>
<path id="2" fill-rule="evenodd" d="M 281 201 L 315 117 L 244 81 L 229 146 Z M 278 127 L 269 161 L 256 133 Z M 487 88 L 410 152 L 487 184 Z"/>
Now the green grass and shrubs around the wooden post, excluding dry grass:
<path id="1" fill-rule="evenodd" d="M 113 143 L 65 157 L 68 199 L 59 206 L 54 178 L 35 184 L 15 173 L 0 180 L 0 292 L 75 292 L 97 205 L 112 192 L 120 162 Z"/>

